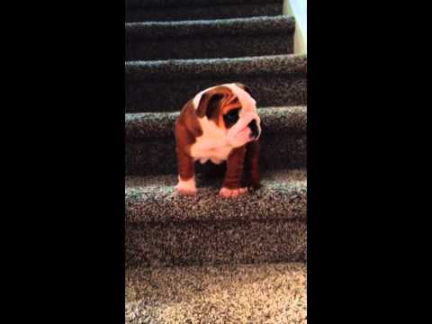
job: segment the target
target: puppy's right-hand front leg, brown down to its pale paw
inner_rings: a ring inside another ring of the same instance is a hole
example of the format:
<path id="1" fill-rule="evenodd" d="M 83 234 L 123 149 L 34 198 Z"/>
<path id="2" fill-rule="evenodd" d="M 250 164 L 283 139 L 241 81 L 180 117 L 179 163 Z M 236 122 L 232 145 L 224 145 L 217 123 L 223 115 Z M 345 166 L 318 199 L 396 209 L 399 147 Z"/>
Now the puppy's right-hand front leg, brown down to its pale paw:
<path id="1" fill-rule="evenodd" d="M 246 193 L 247 188 L 241 188 L 241 175 L 245 164 L 246 147 L 233 148 L 227 160 L 227 172 L 219 194 L 223 197 L 234 197 Z"/>

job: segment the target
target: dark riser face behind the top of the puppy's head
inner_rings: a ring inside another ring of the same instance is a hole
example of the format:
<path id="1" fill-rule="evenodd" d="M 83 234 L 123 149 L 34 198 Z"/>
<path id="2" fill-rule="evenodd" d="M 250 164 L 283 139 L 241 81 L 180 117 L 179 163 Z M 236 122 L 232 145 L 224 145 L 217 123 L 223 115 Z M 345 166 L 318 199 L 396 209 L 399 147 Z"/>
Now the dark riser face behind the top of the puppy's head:
<path id="1" fill-rule="evenodd" d="M 268 76 L 222 76 L 187 79 L 130 81 L 126 78 L 126 112 L 178 112 L 202 89 L 240 82 L 252 89 L 259 106 L 307 103 L 306 72 Z"/>

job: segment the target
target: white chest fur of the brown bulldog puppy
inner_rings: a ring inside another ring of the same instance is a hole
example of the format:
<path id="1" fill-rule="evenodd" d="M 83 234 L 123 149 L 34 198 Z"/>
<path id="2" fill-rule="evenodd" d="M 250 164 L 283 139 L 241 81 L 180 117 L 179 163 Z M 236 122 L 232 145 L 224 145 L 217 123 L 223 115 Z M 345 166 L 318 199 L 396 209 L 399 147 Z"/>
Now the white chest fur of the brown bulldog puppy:
<path id="1" fill-rule="evenodd" d="M 214 164 L 220 164 L 227 160 L 233 147 L 226 139 L 225 130 L 221 130 L 206 118 L 203 118 L 200 123 L 203 133 L 191 146 L 191 156 L 195 161 L 200 160 L 201 163 L 210 159 Z"/>

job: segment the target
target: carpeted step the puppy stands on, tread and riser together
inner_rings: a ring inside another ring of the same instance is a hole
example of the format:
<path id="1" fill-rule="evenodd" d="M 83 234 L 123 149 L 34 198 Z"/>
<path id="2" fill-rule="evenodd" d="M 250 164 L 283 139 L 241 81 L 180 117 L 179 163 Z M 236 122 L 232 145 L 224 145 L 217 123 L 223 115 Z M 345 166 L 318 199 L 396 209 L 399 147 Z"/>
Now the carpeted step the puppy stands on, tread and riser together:
<path id="1" fill-rule="evenodd" d="M 304 170 L 267 173 L 263 188 L 228 200 L 209 183 L 177 197 L 174 175 L 126 184 L 127 267 L 306 259 Z"/>

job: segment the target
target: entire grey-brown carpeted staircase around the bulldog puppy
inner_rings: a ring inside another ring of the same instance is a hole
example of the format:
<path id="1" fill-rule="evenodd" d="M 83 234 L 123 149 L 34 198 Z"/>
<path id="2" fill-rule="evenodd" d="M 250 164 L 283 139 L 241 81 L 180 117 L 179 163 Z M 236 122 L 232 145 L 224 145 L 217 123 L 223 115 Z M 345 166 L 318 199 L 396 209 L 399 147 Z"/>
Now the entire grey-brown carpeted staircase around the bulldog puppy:
<path id="1" fill-rule="evenodd" d="M 307 58 L 282 12 L 279 0 L 126 0 L 127 322 L 306 322 Z M 231 82 L 257 100 L 264 185 L 220 198 L 223 166 L 207 163 L 198 194 L 178 196 L 175 118 Z"/>

